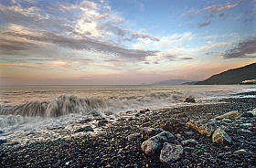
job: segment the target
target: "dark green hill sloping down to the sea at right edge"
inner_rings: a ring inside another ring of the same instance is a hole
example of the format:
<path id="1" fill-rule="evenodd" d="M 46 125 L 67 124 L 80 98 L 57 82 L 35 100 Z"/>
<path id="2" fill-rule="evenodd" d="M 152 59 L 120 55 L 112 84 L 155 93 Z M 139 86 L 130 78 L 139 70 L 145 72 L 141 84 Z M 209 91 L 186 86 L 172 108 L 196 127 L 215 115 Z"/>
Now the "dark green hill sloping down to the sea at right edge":
<path id="1" fill-rule="evenodd" d="M 256 63 L 241 68 L 232 68 L 210 78 L 198 81 L 195 85 L 231 85 L 245 84 L 245 80 L 256 79 Z"/>

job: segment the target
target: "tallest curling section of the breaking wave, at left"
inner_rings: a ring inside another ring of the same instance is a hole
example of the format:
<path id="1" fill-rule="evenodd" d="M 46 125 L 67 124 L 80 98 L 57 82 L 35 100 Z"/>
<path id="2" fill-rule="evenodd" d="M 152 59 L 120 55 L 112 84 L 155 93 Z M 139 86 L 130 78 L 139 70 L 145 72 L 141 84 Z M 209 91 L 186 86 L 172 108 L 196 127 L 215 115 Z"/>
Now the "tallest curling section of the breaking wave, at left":
<path id="1" fill-rule="evenodd" d="M 51 101 L 33 101 L 13 107 L 5 107 L 1 110 L 2 115 L 15 114 L 27 117 L 59 117 L 69 113 L 84 114 L 92 110 L 105 109 L 112 106 L 112 100 L 101 98 L 79 98 L 73 95 L 60 95 Z"/>

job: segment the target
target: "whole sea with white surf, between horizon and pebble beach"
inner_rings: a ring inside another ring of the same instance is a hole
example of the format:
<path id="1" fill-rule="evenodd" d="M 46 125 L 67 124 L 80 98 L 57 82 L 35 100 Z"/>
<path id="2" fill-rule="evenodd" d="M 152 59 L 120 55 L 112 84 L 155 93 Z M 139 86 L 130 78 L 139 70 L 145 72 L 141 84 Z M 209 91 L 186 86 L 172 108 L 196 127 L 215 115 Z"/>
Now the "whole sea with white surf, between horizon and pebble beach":
<path id="1" fill-rule="evenodd" d="M 191 105 L 184 102 L 189 96 L 204 104 L 246 98 L 240 93 L 251 91 L 255 85 L 0 86 L 0 140 L 23 145 L 65 139 L 91 133 L 76 132 L 85 126 L 97 133 L 102 118 L 114 122 L 139 110 Z"/>

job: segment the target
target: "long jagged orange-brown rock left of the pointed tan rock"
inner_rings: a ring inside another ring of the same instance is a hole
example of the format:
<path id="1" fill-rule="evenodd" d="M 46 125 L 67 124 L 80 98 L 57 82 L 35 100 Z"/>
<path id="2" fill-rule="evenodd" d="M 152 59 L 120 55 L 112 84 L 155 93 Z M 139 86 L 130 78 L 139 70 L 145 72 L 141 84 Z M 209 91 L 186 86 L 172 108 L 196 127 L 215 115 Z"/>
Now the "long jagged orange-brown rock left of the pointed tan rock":
<path id="1" fill-rule="evenodd" d="M 187 127 L 190 127 L 201 134 L 206 134 L 210 136 L 213 131 L 217 128 L 217 121 L 212 120 L 190 120 L 186 123 Z"/>

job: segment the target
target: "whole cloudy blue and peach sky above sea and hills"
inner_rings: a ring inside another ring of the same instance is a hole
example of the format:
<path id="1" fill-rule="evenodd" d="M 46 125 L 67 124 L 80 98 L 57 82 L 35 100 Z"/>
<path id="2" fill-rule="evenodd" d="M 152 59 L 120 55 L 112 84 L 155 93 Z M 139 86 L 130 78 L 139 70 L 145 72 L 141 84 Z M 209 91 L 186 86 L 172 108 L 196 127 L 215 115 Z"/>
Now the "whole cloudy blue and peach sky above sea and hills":
<path id="1" fill-rule="evenodd" d="M 0 0 L 0 85 L 203 80 L 256 62 L 256 0 Z"/>

